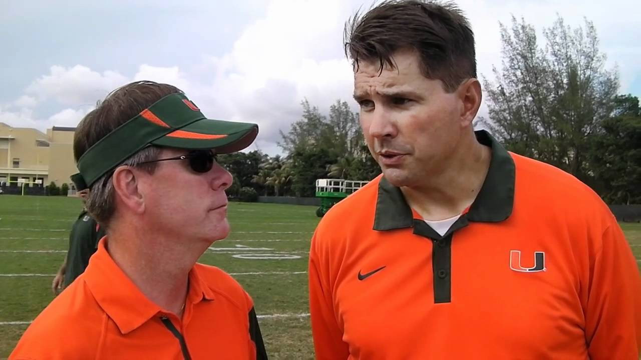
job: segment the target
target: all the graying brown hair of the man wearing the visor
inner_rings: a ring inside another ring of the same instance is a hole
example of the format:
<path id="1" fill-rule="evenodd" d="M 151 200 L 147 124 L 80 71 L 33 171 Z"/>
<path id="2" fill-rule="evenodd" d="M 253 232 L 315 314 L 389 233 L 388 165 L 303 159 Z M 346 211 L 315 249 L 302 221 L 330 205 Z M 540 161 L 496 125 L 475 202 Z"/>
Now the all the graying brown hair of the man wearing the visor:
<path id="1" fill-rule="evenodd" d="M 110 92 L 103 101 L 97 102 L 96 110 L 91 111 L 81 120 L 74 134 L 74 158 L 76 161 L 104 136 L 111 133 L 129 119 L 135 117 L 154 102 L 163 97 L 182 93 L 176 86 L 154 83 L 153 81 L 136 81 Z M 158 158 L 158 147 L 146 147 L 120 165 L 134 166 Z M 140 165 L 153 174 L 156 163 Z M 89 190 L 85 208 L 96 221 L 109 231 L 109 222 L 115 212 L 115 191 L 111 172 L 97 179 Z"/>

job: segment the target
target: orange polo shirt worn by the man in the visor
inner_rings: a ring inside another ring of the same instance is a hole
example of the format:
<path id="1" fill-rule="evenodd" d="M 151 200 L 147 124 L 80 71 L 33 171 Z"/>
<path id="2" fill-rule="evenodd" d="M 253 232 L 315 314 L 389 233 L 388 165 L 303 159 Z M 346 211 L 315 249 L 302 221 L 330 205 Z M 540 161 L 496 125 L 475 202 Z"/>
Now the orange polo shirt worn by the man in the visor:
<path id="1" fill-rule="evenodd" d="M 267 359 L 252 299 L 231 276 L 194 265 L 179 319 L 138 290 L 107 245 L 105 237 L 9 359 Z"/>

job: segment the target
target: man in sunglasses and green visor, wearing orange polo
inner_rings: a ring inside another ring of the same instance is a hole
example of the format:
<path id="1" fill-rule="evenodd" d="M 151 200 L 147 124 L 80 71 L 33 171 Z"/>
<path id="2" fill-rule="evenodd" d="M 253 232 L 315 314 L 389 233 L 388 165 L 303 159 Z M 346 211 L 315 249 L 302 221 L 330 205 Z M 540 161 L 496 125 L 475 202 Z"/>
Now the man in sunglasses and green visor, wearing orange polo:
<path id="1" fill-rule="evenodd" d="M 206 118 L 178 88 L 138 81 L 79 124 L 87 209 L 107 235 L 33 320 L 10 359 L 267 359 L 253 300 L 196 263 L 229 233 L 231 175 L 256 124 Z"/>

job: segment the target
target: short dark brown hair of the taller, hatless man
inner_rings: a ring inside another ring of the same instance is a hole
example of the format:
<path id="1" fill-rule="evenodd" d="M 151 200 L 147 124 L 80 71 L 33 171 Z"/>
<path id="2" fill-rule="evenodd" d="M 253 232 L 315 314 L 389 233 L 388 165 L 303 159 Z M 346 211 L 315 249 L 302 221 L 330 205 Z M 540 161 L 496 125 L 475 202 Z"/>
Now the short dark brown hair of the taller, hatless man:
<path id="1" fill-rule="evenodd" d="M 347 20 L 344 45 L 355 70 L 359 61 L 377 61 L 381 72 L 385 65 L 394 69 L 394 53 L 414 49 L 422 74 L 443 81 L 447 92 L 456 90 L 465 79 L 476 78 L 474 33 L 452 3 L 384 1 Z"/>

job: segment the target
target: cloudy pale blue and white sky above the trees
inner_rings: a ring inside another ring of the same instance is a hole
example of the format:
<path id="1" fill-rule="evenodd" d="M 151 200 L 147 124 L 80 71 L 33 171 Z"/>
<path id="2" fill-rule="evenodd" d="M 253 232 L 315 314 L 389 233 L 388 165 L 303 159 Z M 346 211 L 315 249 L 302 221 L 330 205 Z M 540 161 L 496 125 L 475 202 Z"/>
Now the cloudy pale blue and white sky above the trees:
<path id="1" fill-rule="evenodd" d="M 479 76 L 501 66 L 499 23 L 521 17 L 537 29 L 557 14 L 572 27 L 594 22 L 606 69 L 620 94 L 641 97 L 637 1 L 458 0 L 476 38 Z M 56 3 L 56 4 L 54 4 Z M 135 80 L 176 85 L 212 119 L 255 122 L 248 149 L 281 152 L 279 130 L 308 99 L 326 113 L 352 99 L 345 20 L 363 0 L 0 0 L 0 122 L 76 126 L 111 90 Z M 479 115 L 487 114 L 485 102 Z"/>

